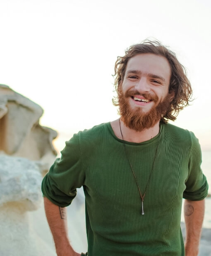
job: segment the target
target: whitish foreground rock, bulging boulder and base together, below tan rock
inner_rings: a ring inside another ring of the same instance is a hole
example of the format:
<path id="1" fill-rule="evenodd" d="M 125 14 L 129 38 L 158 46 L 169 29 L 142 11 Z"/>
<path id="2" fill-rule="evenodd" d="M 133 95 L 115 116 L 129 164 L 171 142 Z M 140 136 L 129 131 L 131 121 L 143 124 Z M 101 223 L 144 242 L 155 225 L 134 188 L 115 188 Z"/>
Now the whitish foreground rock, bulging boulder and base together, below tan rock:
<path id="1" fill-rule="evenodd" d="M 41 181 L 41 169 L 36 162 L 0 155 L 1 256 L 56 255 L 38 237 L 27 212 L 41 205 Z"/>

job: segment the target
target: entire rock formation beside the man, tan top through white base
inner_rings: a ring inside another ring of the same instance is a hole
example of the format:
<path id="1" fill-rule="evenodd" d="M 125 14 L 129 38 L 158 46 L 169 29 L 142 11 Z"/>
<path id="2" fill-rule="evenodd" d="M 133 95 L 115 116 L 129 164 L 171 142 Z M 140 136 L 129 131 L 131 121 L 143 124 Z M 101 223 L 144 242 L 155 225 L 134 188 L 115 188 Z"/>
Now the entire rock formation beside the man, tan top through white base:
<path id="1" fill-rule="evenodd" d="M 1 256 L 56 255 L 29 214 L 41 206 L 41 181 L 57 155 L 52 145 L 57 133 L 39 124 L 42 114 L 40 106 L 0 85 Z"/>

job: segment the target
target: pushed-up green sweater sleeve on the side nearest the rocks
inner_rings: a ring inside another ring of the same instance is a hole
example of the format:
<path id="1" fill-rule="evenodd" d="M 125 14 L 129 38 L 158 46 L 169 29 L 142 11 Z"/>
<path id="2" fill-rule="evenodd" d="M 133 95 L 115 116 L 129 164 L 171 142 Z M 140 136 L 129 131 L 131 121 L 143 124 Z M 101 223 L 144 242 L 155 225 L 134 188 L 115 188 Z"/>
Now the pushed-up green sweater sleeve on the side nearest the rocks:
<path id="1" fill-rule="evenodd" d="M 79 146 L 79 135 L 66 142 L 61 158 L 55 160 L 43 179 L 42 192 L 52 203 L 65 207 L 84 184 L 85 174 Z"/>

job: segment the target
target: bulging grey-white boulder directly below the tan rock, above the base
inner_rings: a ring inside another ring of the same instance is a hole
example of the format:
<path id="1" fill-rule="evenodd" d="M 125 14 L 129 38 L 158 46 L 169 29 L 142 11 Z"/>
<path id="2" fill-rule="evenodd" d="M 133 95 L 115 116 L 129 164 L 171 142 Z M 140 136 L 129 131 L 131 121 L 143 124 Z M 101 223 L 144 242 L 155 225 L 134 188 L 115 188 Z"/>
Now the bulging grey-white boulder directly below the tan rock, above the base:
<path id="1" fill-rule="evenodd" d="M 42 199 L 42 175 L 38 165 L 26 158 L 0 155 L 0 205 L 22 202 L 35 210 Z"/>

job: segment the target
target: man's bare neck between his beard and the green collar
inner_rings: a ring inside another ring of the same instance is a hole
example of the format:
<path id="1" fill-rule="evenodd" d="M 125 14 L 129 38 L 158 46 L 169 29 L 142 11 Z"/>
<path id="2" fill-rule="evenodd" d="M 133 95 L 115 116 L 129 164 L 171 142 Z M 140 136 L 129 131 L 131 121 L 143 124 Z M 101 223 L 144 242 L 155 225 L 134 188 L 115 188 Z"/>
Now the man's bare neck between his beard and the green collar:
<path id="1" fill-rule="evenodd" d="M 159 133 L 159 121 L 151 128 L 137 132 L 125 126 L 120 118 L 120 125 L 122 130 L 123 139 L 129 142 L 144 142 L 155 137 Z M 121 132 L 120 136 L 122 137 Z M 118 136 L 119 137 L 119 136 Z"/>

